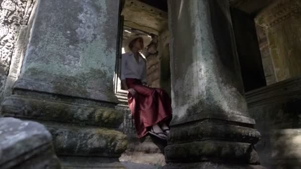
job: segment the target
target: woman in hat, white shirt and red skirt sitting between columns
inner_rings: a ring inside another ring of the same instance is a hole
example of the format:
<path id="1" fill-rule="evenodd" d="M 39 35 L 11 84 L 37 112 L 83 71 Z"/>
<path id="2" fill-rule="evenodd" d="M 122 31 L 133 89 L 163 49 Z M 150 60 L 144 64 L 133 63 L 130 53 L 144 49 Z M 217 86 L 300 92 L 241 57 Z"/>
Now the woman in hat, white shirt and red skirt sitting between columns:
<path id="1" fill-rule="evenodd" d="M 122 55 L 121 83 L 128 90 L 128 103 L 134 117 L 138 137 L 150 133 L 166 140 L 172 118 L 171 100 L 159 88 L 146 86 L 146 61 L 139 51 L 149 44 L 147 36 L 131 36 L 125 43 L 127 53 Z"/>

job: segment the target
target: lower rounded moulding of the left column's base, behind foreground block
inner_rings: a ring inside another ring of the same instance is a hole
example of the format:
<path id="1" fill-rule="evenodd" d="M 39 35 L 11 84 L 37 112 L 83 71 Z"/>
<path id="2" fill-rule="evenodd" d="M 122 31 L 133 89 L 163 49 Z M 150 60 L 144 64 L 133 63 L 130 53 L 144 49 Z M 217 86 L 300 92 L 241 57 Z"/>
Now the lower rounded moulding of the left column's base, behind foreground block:
<path id="1" fill-rule="evenodd" d="M 120 131 L 58 123 L 43 123 L 53 137 L 58 155 L 120 157 L 127 148 L 127 139 Z"/>

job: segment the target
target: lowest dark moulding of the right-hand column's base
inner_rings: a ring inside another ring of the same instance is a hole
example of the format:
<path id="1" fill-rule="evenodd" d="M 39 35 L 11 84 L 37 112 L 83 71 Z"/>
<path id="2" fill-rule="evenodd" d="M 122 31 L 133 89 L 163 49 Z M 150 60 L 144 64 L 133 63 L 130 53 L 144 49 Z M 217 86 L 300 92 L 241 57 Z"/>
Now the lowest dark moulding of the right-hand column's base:
<path id="1" fill-rule="evenodd" d="M 168 163 L 227 161 L 227 163 L 259 164 L 259 157 L 253 145 L 240 142 L 198 141 L 172 144 L 165 147 L 165 157 Z"/>

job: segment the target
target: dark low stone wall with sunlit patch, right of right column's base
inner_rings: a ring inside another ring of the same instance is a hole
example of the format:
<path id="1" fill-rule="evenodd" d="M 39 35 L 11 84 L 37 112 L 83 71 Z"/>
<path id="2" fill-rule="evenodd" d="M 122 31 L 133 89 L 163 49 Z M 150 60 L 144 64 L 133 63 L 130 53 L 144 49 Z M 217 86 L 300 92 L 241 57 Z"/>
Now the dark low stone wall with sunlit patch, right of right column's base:
<path id="1" fill-rule="evenodd" d="M 256 144 L 267 169 L 301 166 L 301 78 L 271 84 L 246 93 L 248 108 L 261 133 Z"/>

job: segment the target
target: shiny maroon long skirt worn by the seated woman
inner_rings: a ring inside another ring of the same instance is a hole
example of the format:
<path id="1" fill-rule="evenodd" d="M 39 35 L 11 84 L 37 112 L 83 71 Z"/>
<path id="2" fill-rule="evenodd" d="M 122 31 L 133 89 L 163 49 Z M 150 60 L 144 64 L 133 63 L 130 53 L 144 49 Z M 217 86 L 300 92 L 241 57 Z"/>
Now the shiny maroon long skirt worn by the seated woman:
<path id="1" fill-rule="evenodd" d="M 154 124 L 165 122 L 169 125 L 171 99 L 164 90 L 144 86 L 138 79 L 127 78 L 126 84 L 136 91 L 134 96 L 128 93 L 128 103 L 139 138 L 145 136 Z"/>

